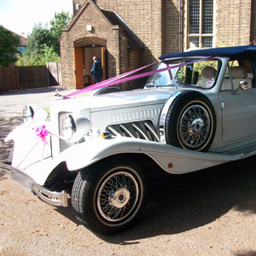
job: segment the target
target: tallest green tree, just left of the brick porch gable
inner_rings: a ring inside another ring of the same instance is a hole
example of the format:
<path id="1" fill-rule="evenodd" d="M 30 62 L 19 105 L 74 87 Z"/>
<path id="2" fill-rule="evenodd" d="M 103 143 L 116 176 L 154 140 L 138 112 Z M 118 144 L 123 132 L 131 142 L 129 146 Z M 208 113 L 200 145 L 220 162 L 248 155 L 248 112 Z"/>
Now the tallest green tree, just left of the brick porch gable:
<path id="1" fill-rule="evenodd" d="M 49 21 L 50 29 L 49 31 L 52 33 L 54 38 L 54 44 L 52 45 L 55 49 L 55 52 L 60 55 L 60 38 L 61 38 L 61 30 L 63 27 L 69 25 L 70 21 L 73 19 L 72 16 L 69 16 L 68 12 L 62 11 L 61 13 L 55 13 L 55 18 Z"/>

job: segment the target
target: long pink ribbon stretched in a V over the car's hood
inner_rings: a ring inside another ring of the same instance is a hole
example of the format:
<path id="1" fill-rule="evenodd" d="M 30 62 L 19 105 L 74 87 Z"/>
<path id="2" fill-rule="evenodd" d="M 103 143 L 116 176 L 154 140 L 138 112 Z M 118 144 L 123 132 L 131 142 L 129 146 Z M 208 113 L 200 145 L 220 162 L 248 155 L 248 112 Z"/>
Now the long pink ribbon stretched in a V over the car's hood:
<path id="1" fill-rule="evenodd" d="M 104 80 L 104 81 L 102 81 L 100 83 L 92 84 L 92 85 L 90 85 L 90 86 L 88 86 L 86 88 L 83 88 L 81 90 L 74 91 L 73 93 L 70 93 L 67 96 L 63 96 L 63 98 L 66 99 L 69 96 L 79 95 L 79 94 L 84 93 L 86 91 L 101 89 L 101 88 L 108 87 L 108 86 L 111 86 L 111 85 L 114 85 L 114 84 L 125 83 L 125 82 L 131 81 L 131 80 L 135 80 L 135 79 L 141 79 L 141 78 L 150 76 L 150 75 L 152 75 L 154 73 L 161 73 L 161 72 L 164 72 L 166 70 L 171 70 L 172 68 L 183 67 L 185 65 L 190 65 L 190 64 L 193 64 L 193 63 L 198 62 L 198 61 L 206 61 L 206 60 L 212 59 L 212 58 L 213 57 L 207 57 L 207 58 L 203 58 L 203 59 L 200 59 L 200 60 L 187 61 L 187 62 L 184 62 L 184 63 L 181 63 L 181 64 L 174 65 L 172 67 L 165 67 L 165 68 L 161 68 L 161 69 L 158 69 L 158 70 L 153 70 L 153 71 L 137 74 L 137 75 L 131 76 L 129 78 L 126 78 L 128 75 L 130 75 L 132 73 L 136 73 L 136 72 L 138 72 L 138 71 L 140 71 L 140 70 L 142 70 L 142 69 L 144 69 L 146 67 L 152 66 L 153 64 L 157 63 L 157 62 L 154 62 L 154 63 L 148 64 L 147 66 L 139 67 L 139 68 L 134 69 L 134 70 L 132 70 L 130 72 L 118 75 L 118 76 L 116 76 L 116 77 L 114 77 L 112 79 L 107 79 L 107 80 Z"/>

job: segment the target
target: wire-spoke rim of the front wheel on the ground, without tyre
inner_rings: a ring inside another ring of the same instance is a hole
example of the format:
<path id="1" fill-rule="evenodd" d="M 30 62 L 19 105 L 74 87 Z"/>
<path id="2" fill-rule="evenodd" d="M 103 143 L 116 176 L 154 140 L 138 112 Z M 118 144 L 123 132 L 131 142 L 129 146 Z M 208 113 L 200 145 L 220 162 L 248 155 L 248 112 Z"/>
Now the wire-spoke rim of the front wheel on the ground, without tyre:
<path id="1" fill-rule="evenodd" d="M 129 172 L 107 177 L 99 189 L 96 202 L 102 218 L 117 222 L 127 217 L 137 204 L 139 186 Z"/>

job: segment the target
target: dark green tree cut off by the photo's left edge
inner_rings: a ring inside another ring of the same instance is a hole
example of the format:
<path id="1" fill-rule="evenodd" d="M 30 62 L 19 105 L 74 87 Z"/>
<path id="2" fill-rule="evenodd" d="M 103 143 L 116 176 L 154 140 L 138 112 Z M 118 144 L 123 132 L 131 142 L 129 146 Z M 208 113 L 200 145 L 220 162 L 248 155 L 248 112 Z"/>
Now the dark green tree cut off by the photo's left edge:
<path id="1" fill-rule="evenodd" d="M 17 61 L 19 44 L 19 37 L 0 26 L 0 66 L 8 67 L 9 64 Z"/>

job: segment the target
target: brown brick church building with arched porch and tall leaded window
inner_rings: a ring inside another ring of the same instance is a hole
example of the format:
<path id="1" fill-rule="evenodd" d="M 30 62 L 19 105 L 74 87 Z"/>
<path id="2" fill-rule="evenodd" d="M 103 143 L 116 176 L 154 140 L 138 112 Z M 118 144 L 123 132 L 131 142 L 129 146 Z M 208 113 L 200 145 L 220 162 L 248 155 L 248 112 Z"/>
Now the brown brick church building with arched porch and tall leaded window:
<path id="1" fill-rule="evenodd" d="M 103 79 L 196 47 L 246 45 L 256 38 L 256 0 L 73 0 L 63 29 L 63 86 L 91 84 L 92 56 Z M 123 89 L 137 87 L 123 84 Z"/>

